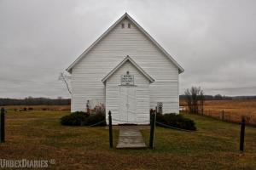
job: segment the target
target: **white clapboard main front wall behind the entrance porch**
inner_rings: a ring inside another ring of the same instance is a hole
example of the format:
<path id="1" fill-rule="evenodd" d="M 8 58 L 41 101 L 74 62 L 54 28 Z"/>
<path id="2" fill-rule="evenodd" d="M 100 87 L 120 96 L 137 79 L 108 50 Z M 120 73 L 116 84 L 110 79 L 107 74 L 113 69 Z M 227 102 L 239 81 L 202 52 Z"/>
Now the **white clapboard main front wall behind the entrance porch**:
<path id="1" fill-rule="evenodd" d="M 105 102 L 102 78 L 129 55 L 155 80 L 149 85 L 150 108 L 162 102 L 164 113 L 178 113 L 177 66 L 135 25 L 127 28 L 128 22 L 126 18 L 119 22 L 73 66 L 72 111 L 84 111 L 88 99 Z"/>

